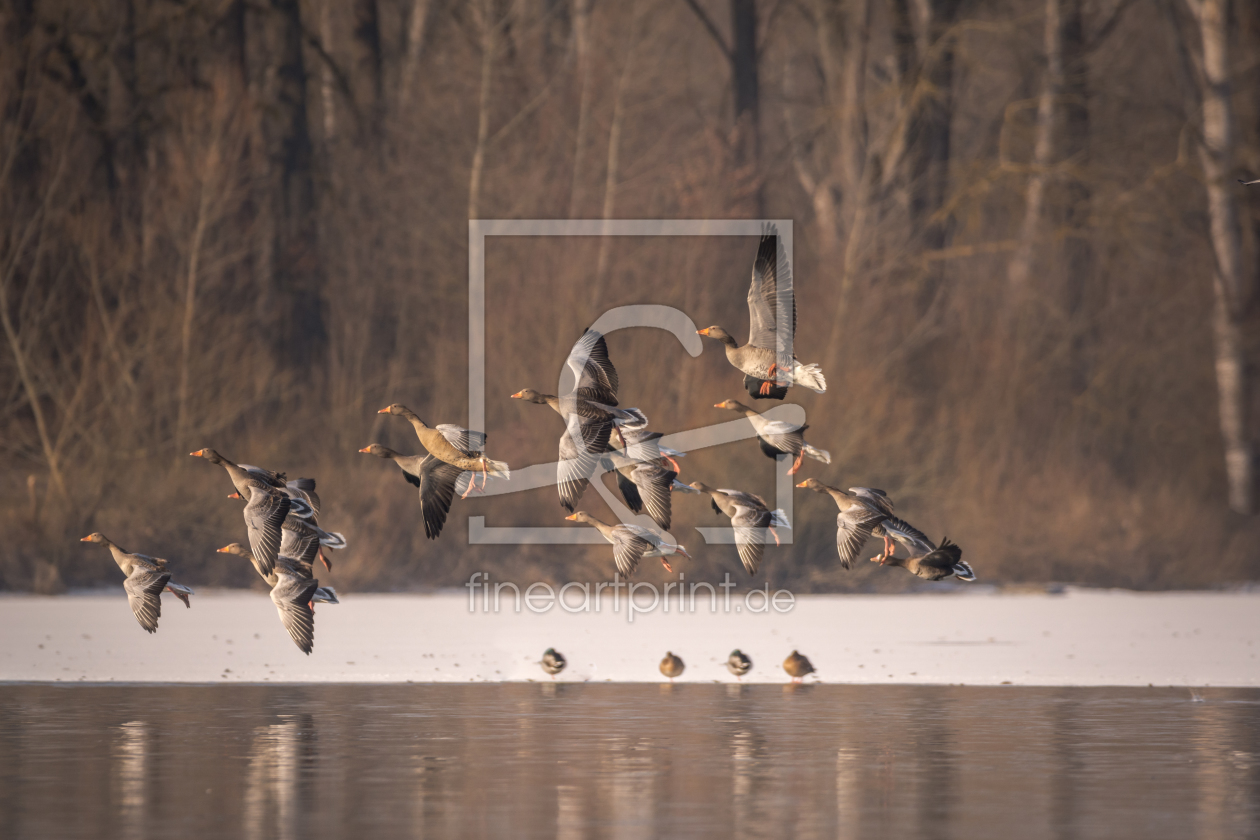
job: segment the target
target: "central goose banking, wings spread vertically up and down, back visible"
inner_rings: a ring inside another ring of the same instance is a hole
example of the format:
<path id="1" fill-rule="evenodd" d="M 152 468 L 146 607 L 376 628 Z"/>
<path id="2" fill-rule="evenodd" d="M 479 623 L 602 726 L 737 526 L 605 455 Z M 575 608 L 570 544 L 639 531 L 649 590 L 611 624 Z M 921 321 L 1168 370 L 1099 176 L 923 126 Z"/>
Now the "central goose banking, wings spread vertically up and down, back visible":
<path id="1" fill-rule="evenodd" d="M 572 513 L 591 482 L 600 455 L 607 451 L 614 429 L 626 446 L 621 427 L 641 429 L 648 426 L 648 418 L 638 408 L 617 408 L 617 370 L 609 359 L 609 346 L 601 334 L 583 332 L 564 364 L 577 383 L 570 393 L 554 397 L 525 388 L 512 398 L 549 406 L 564 421 L 556 486 L 561 506 Z"/>

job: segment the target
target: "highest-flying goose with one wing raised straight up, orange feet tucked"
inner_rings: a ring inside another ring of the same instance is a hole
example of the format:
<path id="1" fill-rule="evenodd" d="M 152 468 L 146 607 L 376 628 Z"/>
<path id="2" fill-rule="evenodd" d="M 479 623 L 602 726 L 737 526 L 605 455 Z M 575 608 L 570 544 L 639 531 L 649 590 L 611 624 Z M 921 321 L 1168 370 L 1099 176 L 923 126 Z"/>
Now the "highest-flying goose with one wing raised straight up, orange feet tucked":
<path id="1" fill-rule="evenodd" d="M 780 277 L 782 282 L 780 283 Z M 780 285 L 782 288 L 780 288 Z M 779 335 L 779 305 L 791 306 L 789 327 L 796 334 L 796 300 L 791 291 L 791 268 L 774 225 L 761 236 L 757 258 L 752 263 L 748 286 L 748 343 L 742 348 L 721 326 L 697 330 L 726 346 L 726 359 L 743 373 L 743 387 L 756 399 L 782 399 L 788 388 L 800 383 L 819 394 L 827 392 L 827 380 L 816 364 L 803 365 L 793 355 L 793 369 L 780 370 L 776 354 L 786 336 Z"/>

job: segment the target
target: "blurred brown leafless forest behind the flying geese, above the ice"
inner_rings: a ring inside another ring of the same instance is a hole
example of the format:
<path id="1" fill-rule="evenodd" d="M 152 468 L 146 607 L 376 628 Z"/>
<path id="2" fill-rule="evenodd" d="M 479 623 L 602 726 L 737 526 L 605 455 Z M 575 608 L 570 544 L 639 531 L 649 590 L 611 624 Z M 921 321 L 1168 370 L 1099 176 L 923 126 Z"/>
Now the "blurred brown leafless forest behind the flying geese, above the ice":
<path id="1" fill-rule="evenodd" d="M 248 584 L 203 446 L 319 480 L 340 587 L 606 579 L 606 547 L 467 545 L 467 514 L 563 525 L 553 487 L 456 501 L 430 543 L 357 452 L 418 451 L 392 402 L 466 419 L 469 218 L 793 219 L 829 382 L 793 398 L 833 455 L 804 475 L 886 489 L 990 582 L 1260 577 L 1255 4 L 6 0 L 0 39 L 3 588 L 116 579 L 92 530 Z M 490 455 L 554 460 L 558 418 L 508 397 L 611 306 L 742 340 L 755 249 L 491 239 Z M 662 335 L 610 336 L 622 404 L 730 419 L 719 345 Z M 774 487 L 752 442 L 684 467 Z M 719 579 L 696 499 L 683 570 Z M 798 491 L 772 584 L 917 583 L 838 568 L 834 515 Z"/>

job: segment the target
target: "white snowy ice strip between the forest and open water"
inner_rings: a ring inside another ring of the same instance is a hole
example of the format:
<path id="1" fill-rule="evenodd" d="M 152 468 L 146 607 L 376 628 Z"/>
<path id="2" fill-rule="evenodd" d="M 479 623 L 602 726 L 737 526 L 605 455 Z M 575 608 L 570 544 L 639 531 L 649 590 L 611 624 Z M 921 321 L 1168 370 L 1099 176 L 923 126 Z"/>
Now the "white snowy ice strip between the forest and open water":
<path id="1" fill-rule="evenodd" d="M 793 649 L 810 679 L 843 684 L 1260 686 L 1260 594 L 1244 592 L 804 596 L 788 612 L 730 610 L 634 615 L 469 610 L 464 594 L 344 594 L 319 606 L 315 651 L 285 633 L 266 594 L 207 591 L 185 610 L 164 601 L 146 635 L 121 586 L 60 597 L 0 596 L 0 681 L 469 683 L 547 678 L 547 647 L 570 661 L 562 681 L 662 680 L 667 650 L 680 681 L 782 683 Z M 755 599 L 753 608 L 760 603 Z"/>

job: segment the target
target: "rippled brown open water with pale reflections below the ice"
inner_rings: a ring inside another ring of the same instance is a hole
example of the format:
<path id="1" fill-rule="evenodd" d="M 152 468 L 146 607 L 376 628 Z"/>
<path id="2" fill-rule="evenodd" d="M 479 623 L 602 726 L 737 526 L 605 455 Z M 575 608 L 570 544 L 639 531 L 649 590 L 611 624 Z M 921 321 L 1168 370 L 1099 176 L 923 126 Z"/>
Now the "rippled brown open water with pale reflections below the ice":
<path id="1" fill-rule="evenodd" d="M 9 685 L 0 835 L 1242 837 L 1257 710 L 1241 690 Z"/>

